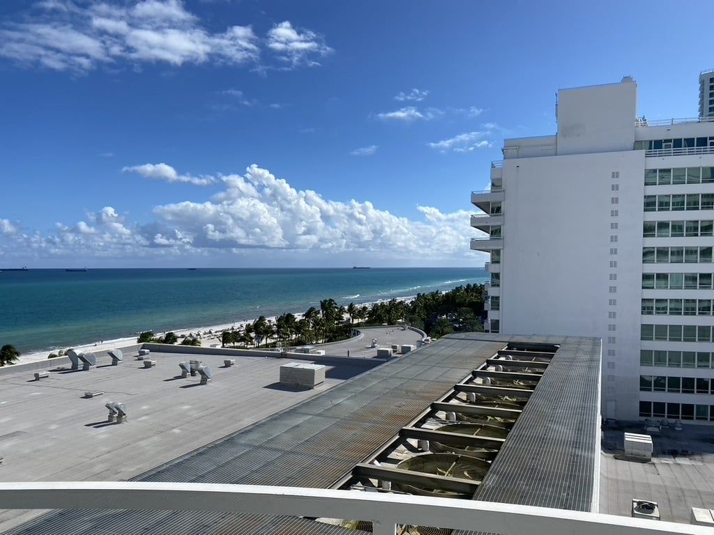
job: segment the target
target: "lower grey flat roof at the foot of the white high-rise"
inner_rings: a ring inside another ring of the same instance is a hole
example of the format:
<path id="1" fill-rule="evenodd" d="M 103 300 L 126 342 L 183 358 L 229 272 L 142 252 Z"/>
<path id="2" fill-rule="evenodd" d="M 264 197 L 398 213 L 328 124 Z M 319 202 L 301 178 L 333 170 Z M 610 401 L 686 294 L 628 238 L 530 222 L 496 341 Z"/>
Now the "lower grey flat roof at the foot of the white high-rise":
<path id="1" fill-rule="evenodd" d="M 624 429 L 643 433 L 642 428 Z M 653 436 L 652 462 L 624 459 L 623 430 L 605 431 L 600 512 L 630 516 L 632 499 L 656 501 L 660 519 L 690 523 L 692 507 L 714 507 L 714 444 L 708 426 L 683 425 Z"/>

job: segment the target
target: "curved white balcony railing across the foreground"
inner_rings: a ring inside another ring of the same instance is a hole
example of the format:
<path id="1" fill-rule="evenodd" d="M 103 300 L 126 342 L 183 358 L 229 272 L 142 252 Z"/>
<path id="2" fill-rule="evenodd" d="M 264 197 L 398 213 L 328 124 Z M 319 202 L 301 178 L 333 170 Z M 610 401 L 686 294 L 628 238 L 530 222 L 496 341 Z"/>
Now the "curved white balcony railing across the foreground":
<path id="1" fill-rule="evenodd" d="M 508 535 L 711 534 L 711 528 L 705 526 L 626 516 L 294 486 L 136 481 L 0 483 L 0 506 L 3 509 L 206 511 L 371 520 L 375 535 L 395 535 L 397 524 L 478 529 Z"/>

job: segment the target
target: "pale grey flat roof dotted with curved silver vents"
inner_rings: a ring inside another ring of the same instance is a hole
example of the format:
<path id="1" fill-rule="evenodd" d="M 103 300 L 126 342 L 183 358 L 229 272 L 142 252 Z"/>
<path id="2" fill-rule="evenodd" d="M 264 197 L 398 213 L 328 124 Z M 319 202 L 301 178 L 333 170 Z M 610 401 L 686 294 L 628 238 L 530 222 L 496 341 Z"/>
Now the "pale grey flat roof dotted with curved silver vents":
<path id="1" fill-rule="evenodd" d="M 134 352 L 136 355 L 136 352 Z M 213 370 L 211 383 L 200 377 L 176 378 L 178 362 L 198 358 Z M 1 481 L 117 481 L 314 397 L 379 362 L 344 360 L 328 365 L 326 383 L 293 391 L 277 383 L 278 358 L 177 355 L 152 352 L 156 366 L 126 357 L 111 366 L 108 357 L 88 371 L 51 368 L 34 380 L 34 371 L 4 370 L 0 376 Z M 306 355 L 308 362 L 315 359 Z M 104 394 L 84 399 L 88 390 Z M 106 402 L 124 402 L 126 424 L 108 424 Z M 36 516 L 24 514 L 21 518 Z M 0 530 L 17 513 L 0 510 Z"/>

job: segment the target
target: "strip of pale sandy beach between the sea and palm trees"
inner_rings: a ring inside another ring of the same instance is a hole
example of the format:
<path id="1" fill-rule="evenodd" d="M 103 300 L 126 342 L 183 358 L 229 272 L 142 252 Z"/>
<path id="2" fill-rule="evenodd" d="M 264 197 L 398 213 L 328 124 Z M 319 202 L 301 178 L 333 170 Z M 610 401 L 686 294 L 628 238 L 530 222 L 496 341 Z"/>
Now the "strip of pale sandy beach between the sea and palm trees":
<path id="1" fill-rule="evenodd" d="M 405 297 L 391 297 L 390 299 L 380 299 L 376 301 L 369 301 L 369 302 L 363 302 L 360 303 L 358 306 L 360 307 L 370 307 L 371 305 L 376 305 L 381 302 L 390 302 L 391 300 L 396 300 L 400 302 L 412 302 L 413 300 L 416 299 L 416 295 L 408 295 Z M 291 312 L 283 312 L 285 314 L 289 314 Z M 301 317 L 303 317 L 303 312 L 292 312 L 292 314 L 299 320 Z M 276 319 L 276 316 L 266 316 L 268 320 L 272 320 L 273 322 Z M 222 323 L 219 325 L 208 325 L 205 327 L 188 327 L 188 328 L 178 328 L 178 329 L 169 329 L 166 331 L 162 332 L 155 332 L 154 334 L 156 336 L 160 335 L 165 335 L 166 332 L 174 332 L 176 336 L 181 337 L 181 335 L 189 335 L 189 334 L 199 334 L 201 335 L 201 346 L 202 347 L 211 347 L 213 344 L 218 344 L 218 347 L 221 347 L 221 334 L 223 333 L 224 330 L 231 330 L 231 327 L 236 327 L 238 328 L 243 328 L 245 325 L 248 323 L 253 323 L 257 320 L 258 318 L 253 318 L 252 320 L 239 320 L 236 322 L 231 322 L 231 323 Z M 213 333 L 211 334 L 211 332 Z M 121 337 L 121 338 L 113 338 L 111 340 L 100 340 L 97 342 L 89 342 L 86 344 L 77 344 L 77 345 L 69 345 L 67 347 L 61 347 L 61 348 L 55 348 L 55 349 L 47 349 L 47 350 L 40 350 L 40 351 L 33 351 L 29 353 L 25 353 L 23 355 L 20 355 L 19 359 L 15 363 L 15 365 L 18 364 L 27 364 L 29 362 L 40 362 L 43 360 L 51 360 L 48 359 L 47 356 L 50 353 L 54 352 L 59 352 L 59 350 L 68 350 L 68 349 L 74 349 L 76 351 L 81 351 L 81 352 L 94 352 L 94 351 L 106 351 L 106 350 L 111 350 L 114 349 L 115 347 L 125 347 L 127 345 L 135 345 L 139 342 L 136 342 L 136 339 L 138 338 L 138 335 L 130 336 L 130 337 Z M 176 344 L 180 345 L 180 344 Z"/>

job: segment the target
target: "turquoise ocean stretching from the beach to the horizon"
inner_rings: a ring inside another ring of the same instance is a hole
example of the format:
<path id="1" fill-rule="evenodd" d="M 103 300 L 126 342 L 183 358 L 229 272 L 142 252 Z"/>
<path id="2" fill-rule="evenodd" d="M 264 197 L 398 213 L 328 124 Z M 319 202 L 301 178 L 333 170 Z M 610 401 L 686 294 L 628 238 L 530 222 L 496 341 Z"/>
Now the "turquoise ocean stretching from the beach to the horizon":
<path id="1" fill-rule="evenodd" d="M 477 268 L 64 270 L 0 273 L 0 345 L 23 353 L 259 315 L 451 290 Z"/>

